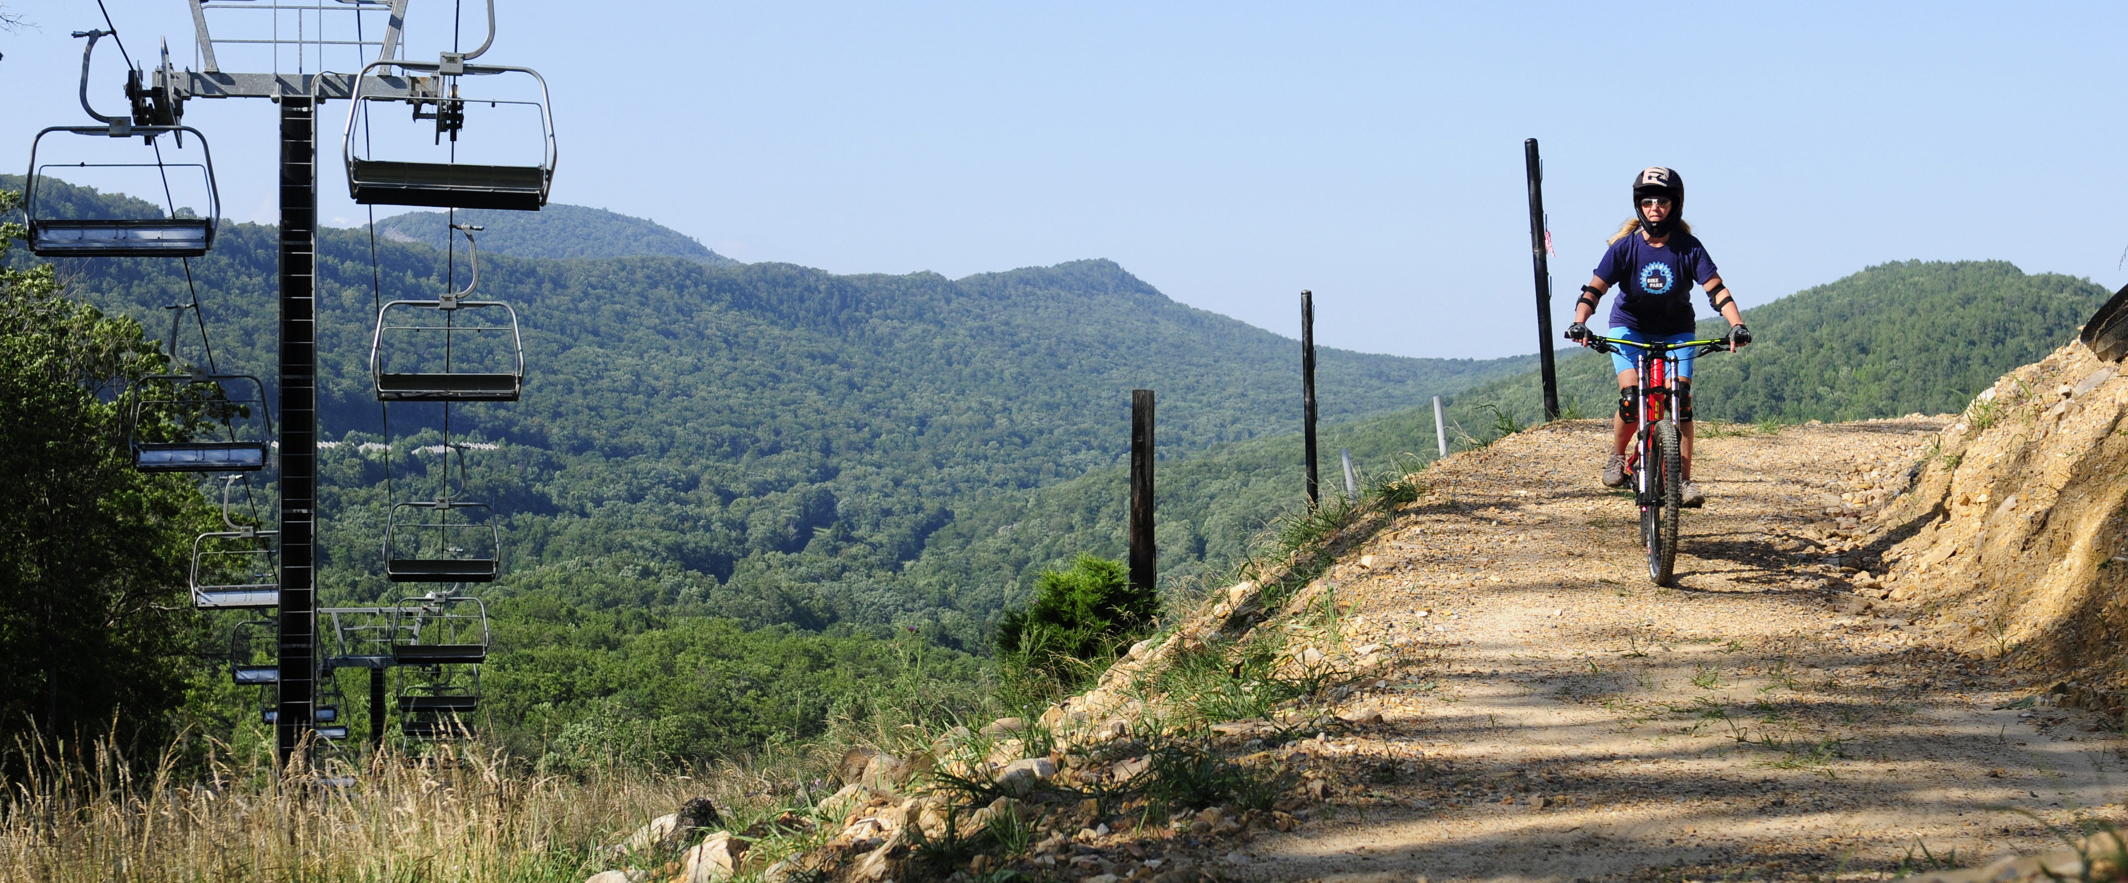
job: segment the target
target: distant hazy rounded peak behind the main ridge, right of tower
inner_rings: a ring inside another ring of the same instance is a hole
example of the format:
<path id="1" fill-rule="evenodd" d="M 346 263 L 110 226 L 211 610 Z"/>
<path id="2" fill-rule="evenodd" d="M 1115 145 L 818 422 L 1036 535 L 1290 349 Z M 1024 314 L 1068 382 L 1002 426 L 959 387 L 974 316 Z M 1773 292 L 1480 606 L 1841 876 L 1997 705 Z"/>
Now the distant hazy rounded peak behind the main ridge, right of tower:
<path id="1" fill-rule="evenodd" d="M 377 236 L 392 243 L 421 243 L 443 249 L 447 213 L 411 211 L 379 217 Z M 460 209 L 458 223 L 485 228 L 481 251 L 517 257 L 687 257 L 709 266 L 738 264 L 709 251 L 694 236 L 658 221 L 604 209 L 549 204 L 541 211 Z M 460 243 L 464 247 L 464 243 Z"/>

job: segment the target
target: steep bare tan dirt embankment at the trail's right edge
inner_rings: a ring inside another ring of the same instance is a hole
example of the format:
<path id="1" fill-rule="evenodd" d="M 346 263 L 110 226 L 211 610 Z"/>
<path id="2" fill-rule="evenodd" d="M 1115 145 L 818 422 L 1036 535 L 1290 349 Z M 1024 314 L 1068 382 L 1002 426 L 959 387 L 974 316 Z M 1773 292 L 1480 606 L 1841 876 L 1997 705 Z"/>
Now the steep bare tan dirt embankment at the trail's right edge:
<path id="1" fill-rule="evenodd" d="M 1894 598 L 1943 638 L 2051 677 L 2064 704 L 2122 713 L 2128 672 L 2128 379 L 2081 343 L 2005 374 L 1885 513 Z"/>

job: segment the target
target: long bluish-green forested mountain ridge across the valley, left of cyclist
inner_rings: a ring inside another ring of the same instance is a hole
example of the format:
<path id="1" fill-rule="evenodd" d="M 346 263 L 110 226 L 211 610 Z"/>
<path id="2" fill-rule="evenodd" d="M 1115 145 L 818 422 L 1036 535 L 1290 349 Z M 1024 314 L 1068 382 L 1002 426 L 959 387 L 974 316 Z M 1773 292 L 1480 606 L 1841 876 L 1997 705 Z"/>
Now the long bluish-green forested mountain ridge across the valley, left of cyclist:
<path id="1" fill-rule="evenodd" d="M 87 198 L 70 194 L 72 198 Z M 328 598 L 392 589 L 387 500 L 434 496 L 440 406 L 370 396 L 375 304 L 464 285 L 445 251 L 328 230 L 319 253 Z M 270 228 L 226 226 L 192 279 L 223 368 L 270 374 Z M 166 326 L 177 262 L 77 260 L 96 304 Z M 453 406 L 470 496 L 506 513 L 494 598 L 660 606 L 749 626 L 913 623 L 977 647 L 1021 572 L 904 574 L 964 502 L 1121 462 L 1128 389 L 1160 394 L 1166 455 L 1298 428 L 1298 345 L 1177 304 L 1111 262 L 951 281 L 789 264 L 485 255 L 479 294 L 523 326 L 521 402 Z M 198 360 L 194 332 L 181 336 Z M 1532 360 L 1324 349 L 1328 419 L 1394 411 Z M 368 447 L 364 447 L 368 445 Z M 387 485 L 389 479 L 389 485 Z"/>

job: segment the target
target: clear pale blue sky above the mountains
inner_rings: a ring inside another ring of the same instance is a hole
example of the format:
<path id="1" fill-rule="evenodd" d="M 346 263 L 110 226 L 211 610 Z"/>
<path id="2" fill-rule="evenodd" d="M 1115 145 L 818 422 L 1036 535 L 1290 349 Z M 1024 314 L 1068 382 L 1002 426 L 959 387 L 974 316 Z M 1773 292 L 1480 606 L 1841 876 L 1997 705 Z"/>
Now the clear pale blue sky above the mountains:
<path id="1" fill-rule="evenodd" d="M 168 36 L 189 62 L 181 0 L 106 2 L 136 57 Z M 13 170 L 38 128 L 85 121 L 68 32 L 102 17 L 6 9 L 36 23 L 0 34 Z M 1683 172 L 1747 306 L 1909 257 L 2128 281 L 2122 4 L 602 9 L 498 0 L 485 60 L 553 83 L 553 198 L 749 262 L 1111 257 L 1281 334 L 1311 287 L 1334 347 L 1528 353 L 1534 136 L 1560 313 L 1649 164 Z M 449 15 L 413 0 L 413 55 Z M 117 104 L 121 77 L 98 64 L 92 89 Z M 215 140 L 223 213 L 270 221 L 272 106 L 194 102 L 187 123 Z M 360 221 L 323 181 L 326 217 Z"/>

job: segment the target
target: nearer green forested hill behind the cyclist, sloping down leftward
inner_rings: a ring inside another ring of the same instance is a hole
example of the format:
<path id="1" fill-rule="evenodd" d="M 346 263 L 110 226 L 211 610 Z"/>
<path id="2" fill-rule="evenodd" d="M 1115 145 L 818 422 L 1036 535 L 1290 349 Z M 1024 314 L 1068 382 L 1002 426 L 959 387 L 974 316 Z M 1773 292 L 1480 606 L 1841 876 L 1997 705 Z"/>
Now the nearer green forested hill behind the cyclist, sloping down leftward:
<path id="1" fill-rule="evenodd" d="M 2075 336 L 2107 296 L 2083 279 L 2028 277 L 2007 262 L 1873 266 L 1745 311 L 1758 343 L 1700 360 L 1696 413 L 1800 423 L 1958 411 L 2005 370 L 2036 362 Z M 1705 336 L 1726 330 L 1719 319 L 1702 323 Z M 1562 351 L 1558 368 L 1570 415 L 1615 411 L 1617 381 L 1607 355 Z M 1502 417 L 1534 423 L 1539 402 L 1534 370 L 1456 394 L 1451 445 L 1494 438 Z M 1326 496 L 1343 492 L 1341 447 L 1351 449 L 1362 472 L 1426 464 L 1434 457 L 1432 409 L 1326 426 L 1319 440 Z M 1296 462 L 1300 436 L 1285 434 L 1162 464 L 1162 577 L 1224 574 L 1241 562 L 1264 517 L 1304 498 Z M 953 585 L 987 570 L 1062 566 L 1079 551 L 1121 555 L 1126 479 L 1126 468 L 1102 468 L 964 504 L 909 566 L 909 577 L 919 585 Z"/>

